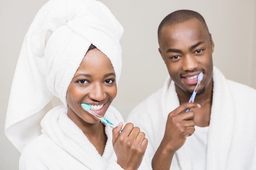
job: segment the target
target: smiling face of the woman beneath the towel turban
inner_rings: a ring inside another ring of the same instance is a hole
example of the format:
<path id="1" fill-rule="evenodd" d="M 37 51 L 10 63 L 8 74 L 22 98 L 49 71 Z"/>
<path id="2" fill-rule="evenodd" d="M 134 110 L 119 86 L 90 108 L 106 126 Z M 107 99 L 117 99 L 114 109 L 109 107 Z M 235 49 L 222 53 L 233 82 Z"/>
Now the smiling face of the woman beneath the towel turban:
<path id="1" fill-rule="evenodd" d="M 98 49 L 89 50 L 67 89 L 67 115 L 77 123 L 94 124 L 99 119 L 83 110 L 81 103 L 104 116 L 117 95 L 115 71 L 108 57 Z"/>

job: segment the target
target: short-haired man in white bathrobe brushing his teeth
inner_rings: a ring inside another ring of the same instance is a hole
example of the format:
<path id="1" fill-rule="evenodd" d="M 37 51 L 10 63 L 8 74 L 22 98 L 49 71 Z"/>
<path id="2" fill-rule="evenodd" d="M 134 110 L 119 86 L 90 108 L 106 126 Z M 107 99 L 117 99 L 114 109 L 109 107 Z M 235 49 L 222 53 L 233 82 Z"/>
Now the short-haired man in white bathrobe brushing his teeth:
<path id="1" fill-rule="evenodd" d="M 255 170 L 256 90 L 227 80 L 213 66 L 204 18 L 190 10 L 167 15 L 158 42 L 169 77 L 128 116 L 146 133 L 152 168 Z M 201 72 L 195 102 L 189 103 Z"/>

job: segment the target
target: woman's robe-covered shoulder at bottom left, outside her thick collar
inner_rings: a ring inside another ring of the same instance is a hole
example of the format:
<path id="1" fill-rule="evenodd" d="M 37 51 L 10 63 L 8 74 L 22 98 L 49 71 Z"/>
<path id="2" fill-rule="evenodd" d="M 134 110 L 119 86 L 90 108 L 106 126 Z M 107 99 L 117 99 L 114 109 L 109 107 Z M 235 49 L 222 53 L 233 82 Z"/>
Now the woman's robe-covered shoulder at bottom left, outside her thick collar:
<path id="1" fill-rule="evenodd" d="M 22 150 L 19 161 L 20 170 L 63 170 L 70 169 L 67 160 L 72 159 L 59 144 L 46 133 L 36 137 Z M 75 161 L 76 162 L 76 161 Z"/>

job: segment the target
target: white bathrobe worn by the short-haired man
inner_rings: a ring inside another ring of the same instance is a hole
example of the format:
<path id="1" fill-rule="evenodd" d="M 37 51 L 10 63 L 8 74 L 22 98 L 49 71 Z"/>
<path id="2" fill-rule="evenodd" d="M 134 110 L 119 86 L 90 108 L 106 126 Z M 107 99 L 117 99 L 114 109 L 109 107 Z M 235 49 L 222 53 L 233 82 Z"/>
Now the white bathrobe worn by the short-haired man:
<path id="1" fill-rule="evenodd" d="M 162 89 L 128 116 L 128 121 L 146 133 L 145 155 L 150 159 L 164 136 L 168 113 L 179 105 L 174 82 L 168 77 Z M 171 170 L 192 170 L 187 149 L 184 145 L 177 150 Z M 207 170 L 256 170 L 256 90 L 227 80 L 216 67 L 206 164 Z"/>

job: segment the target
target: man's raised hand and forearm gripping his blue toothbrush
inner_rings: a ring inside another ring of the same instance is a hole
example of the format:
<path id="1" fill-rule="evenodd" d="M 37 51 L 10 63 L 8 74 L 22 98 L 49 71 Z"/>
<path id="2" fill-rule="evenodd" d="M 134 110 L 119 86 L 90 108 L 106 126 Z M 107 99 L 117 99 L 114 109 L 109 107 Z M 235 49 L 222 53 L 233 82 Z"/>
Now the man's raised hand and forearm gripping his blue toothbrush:
<path id="1" fill-rule="evenodd" d="M 195 114 L 193 111 L 185 111 L 200 107 L 200 105 L 195 103 L 185 103 L 168 114 L 164 137 L 154 156 L 162 157 L 162 165 L 171 165 L 174 153 L 184 145 L 186 137 L 192 135 L 195 131 L 195 121 L 193 120 Z M 162 167 L 162 170 L 165 169 L 169 170 L 170 166 Z"/>

